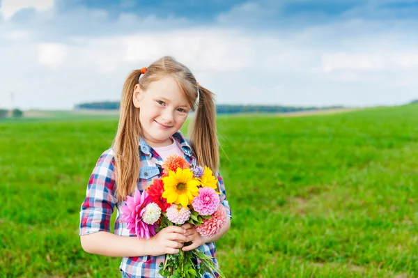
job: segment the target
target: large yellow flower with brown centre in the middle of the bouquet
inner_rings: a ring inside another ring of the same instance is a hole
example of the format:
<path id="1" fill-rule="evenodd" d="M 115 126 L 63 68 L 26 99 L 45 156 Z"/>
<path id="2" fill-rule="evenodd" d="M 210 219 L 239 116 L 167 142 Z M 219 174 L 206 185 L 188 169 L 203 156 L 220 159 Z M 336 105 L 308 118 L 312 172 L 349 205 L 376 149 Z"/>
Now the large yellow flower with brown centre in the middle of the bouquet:
<path id="1" fill-rule="evenodd" d="M 200 181 L 193 178 L 190 169 L 178 168 L 176 172 L 169 171 L 169 176 L 161 178 L 164 183 L 162 197 L 167 199 L 167 203 L 179 203 L 183 207 L 191 205 L 194 196 L 199 195 Z"/>

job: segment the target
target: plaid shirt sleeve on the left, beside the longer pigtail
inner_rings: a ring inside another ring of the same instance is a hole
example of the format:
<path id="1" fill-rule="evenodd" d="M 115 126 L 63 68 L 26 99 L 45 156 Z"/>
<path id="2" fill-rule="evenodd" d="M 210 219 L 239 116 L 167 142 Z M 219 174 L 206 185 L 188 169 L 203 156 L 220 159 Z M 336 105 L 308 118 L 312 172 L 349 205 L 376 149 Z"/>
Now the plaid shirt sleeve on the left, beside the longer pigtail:
<path id="1" fill-rule="evenodd" d="M 110 218 L 117 202 L 115 190 L 115 160 L 111 150 L 99 158 L 88 180 L 86 199 L 80 211 L 79 235 L 110 231 Z"/>

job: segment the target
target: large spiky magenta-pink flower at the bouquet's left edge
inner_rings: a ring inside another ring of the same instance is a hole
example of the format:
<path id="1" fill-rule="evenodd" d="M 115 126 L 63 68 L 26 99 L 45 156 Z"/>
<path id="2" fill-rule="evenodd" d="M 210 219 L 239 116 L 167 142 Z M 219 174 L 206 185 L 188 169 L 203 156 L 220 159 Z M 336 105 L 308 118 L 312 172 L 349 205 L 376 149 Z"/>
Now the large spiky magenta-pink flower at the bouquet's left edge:
<path id="1" fill-rule="evenodd" d="M 127 196 L 125 206 L 122 206 L 121 219 L 127 223 L 127 229 L 138 238 L 150 238 L 155 235 L 156 224 L 146 224 L 142 216 L 146 212 L 146 206 L 152 200 L 148 193 L 135 190 L 134 196 Z"/>

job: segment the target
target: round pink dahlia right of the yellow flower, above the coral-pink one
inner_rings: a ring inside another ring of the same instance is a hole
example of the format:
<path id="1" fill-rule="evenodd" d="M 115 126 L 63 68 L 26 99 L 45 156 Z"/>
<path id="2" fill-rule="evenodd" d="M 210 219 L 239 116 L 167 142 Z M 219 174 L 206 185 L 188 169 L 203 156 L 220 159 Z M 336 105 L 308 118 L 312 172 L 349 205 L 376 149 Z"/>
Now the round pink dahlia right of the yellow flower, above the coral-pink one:
<path id="1" fill-rule="evenodd" d="M 212 215 L 219 206 L 219 195 L 211 187 L 201 187 L 199 195 L 194 197 L 192 205 L 200 215 Z"/>

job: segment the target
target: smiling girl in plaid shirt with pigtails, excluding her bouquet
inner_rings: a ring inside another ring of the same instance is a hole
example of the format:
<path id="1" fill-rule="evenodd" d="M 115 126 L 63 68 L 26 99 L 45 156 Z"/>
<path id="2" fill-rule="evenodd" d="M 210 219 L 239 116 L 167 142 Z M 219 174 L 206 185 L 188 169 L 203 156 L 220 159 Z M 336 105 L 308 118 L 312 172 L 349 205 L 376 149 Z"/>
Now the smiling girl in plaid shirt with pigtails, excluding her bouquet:
<path id="1" fill-rule="evenodd" d="M 141 77 L 141 78 L 140 78 Z M 190 110 L 196 109 L 190 141 L 180 128 Z M 199 86 L 192 72 L 172 57 L 164 56 L 148 68 L 134 70 L 126 79 L 121 116 L 114 143 L 100 156 L 80 212 L 80 237 L 84 251 L 104 256 L 123 256 L 122 277 L 162 277 L 165 254 L 199 248 L 215 258 L 215 240 L 231 225 L 231 209 L 219 176 L 219 150 L 213 94 Z M 217 174 L 221 201 L 229 216 L 222 230 L 210 238 L 192 224 L 169 226 L 149 240 L 130 235 L 120 220 L 121 206 L 135 188 L 145 190 L 162 176 L 162 162 L 178 154 L 190 164 L 207 165 Z M 117 210 L 114 231 L 110 218 Z M 183 247 L 184 242 L 192 242 Z M 205 273 L 203 277 L 210 277 Z"/>

